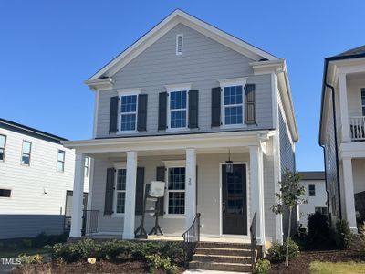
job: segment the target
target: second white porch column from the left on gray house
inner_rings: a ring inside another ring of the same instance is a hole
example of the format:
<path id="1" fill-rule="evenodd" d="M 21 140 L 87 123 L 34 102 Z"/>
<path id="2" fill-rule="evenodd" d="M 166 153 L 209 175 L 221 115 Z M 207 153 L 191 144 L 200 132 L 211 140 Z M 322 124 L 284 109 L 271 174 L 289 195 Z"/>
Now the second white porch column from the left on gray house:
<path id="1" fill-rule="evenodd" d="M 127 152 L 127 178 L 126 178 L 123 239 L 134 238 L 136 179 L 137 179 L 137 152 Z"/>

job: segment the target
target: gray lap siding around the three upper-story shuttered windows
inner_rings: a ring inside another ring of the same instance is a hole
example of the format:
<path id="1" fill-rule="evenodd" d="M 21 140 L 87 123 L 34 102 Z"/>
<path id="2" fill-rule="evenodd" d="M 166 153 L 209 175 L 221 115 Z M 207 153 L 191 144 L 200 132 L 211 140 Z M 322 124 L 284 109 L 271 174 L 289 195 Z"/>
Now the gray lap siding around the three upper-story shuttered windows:
<path id="1" fill-rule="evenodd" d="M 175 54 L 175 37 L 179 33 L 184 37 L 183 56 Z M 138 134 L 167 133 L 158 131 L 159 92 L 166 91 L 165 85 L 180 83 L 191 83 L 193 90 L 199 90 L 199 128 L 190 131 L 220 131 L 211 128 L 211 90 L 219 86 L 220 79 L 239 77 L 248 77 L 247 83 L 255 84 L 257 125 L 247 129 L 271 129 L 271 76 L 254 76 L 249 67 L 252 61 L 187 26 L 175 26 L 113 76 L 113 90 L 99 91 L 97 137 L 115 135 L 109 133 L 110 98 L 118 94 L 117 90 L 130 88 L 141 88 L 141 93 L 148 94 L 147 131 Z"/>

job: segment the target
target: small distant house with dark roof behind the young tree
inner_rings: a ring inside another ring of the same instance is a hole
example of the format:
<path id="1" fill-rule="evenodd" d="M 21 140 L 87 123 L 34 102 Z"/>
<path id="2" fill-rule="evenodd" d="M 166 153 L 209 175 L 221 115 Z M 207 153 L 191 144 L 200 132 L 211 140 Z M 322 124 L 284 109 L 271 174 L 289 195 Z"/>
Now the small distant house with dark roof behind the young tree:
<path id="1" fill-rule="evenodd" d="M 299 205 L 299 224 L 306 228 L 308 216 L 315 212 L 328 214 L 325 172 L 299 172 L 300 184 L 306 189 L 307 203 Z"/>

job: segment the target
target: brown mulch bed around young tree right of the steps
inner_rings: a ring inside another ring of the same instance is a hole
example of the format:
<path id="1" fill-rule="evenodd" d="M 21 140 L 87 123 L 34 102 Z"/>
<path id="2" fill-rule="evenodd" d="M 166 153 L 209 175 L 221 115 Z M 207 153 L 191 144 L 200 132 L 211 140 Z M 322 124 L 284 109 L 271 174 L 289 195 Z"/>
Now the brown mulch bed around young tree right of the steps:
<path id="1" fill-rule="evenodd" d="M 355 261 L 360 262 L 365 260 L 365 254 L 359 250 L 315 250 L 315 251 L 300 251 L 297 258 L 293 258 L 289 261 L 289 266 L 286 268 L 284 262 L 271 263 L 270 273 L 296 273 L 307 274 L 309 273 L 309 264 L 312 261 L 328 261 L 328 262 L 347 262 Z"/>

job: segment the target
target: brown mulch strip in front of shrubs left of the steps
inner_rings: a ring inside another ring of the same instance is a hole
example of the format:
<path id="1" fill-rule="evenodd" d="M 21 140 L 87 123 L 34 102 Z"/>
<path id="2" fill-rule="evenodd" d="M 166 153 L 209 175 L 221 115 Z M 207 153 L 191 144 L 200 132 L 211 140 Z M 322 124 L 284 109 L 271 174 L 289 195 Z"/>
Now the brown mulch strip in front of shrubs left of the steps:
<path id="1" fill-rule="evenodd" d="M 183 273 L 184 269 L 180 268 L 177 273 Z M 39 264 L 25 265 L 14 269 L 12 274 L 68 274 L 68 273 L 149 273 L 148 264 L 140 261 L 125 261 L 122 263 L 113 263 L 109 261 L 98 261 L 92 265 L 89 263 L 71 263 L 71 264 Z M 164 270 L 158 269 L 158 274 L 165 273 Z"/>

